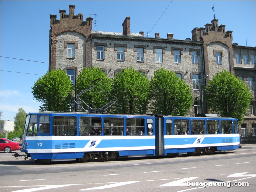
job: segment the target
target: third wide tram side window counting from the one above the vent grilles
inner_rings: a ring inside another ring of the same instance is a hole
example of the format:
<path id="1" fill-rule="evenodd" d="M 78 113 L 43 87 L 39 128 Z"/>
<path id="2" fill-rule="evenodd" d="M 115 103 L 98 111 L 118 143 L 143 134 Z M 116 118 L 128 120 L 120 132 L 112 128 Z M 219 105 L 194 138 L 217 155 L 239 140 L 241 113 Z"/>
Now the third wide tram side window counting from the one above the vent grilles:
<path id="1" fill-rule="evenodd" d="M 124 135 L 124 119 L 105 117 L 104 135 Z"/>

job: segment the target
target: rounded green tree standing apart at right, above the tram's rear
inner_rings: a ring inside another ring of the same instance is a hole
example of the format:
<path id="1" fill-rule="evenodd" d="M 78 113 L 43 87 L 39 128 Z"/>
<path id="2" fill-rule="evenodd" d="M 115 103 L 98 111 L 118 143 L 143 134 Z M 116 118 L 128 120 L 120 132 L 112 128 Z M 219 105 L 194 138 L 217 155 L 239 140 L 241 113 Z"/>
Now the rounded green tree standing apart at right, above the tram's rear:
<path id="1" fill-rule="evenodd" d="M 224 70 L 213 76 L 205 89 L 207 107 L 213 113 L 243 121 L 243 114 L 250 105 L 252 95 L 240 78 Z"/>

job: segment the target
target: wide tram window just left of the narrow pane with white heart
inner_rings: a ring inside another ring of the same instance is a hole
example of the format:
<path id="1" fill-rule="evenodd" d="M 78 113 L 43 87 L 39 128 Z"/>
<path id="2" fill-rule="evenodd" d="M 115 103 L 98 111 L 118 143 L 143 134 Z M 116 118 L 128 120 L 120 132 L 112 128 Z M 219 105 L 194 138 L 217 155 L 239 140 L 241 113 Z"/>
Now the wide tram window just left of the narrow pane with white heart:
<path id="1" fill-rule="evenodd" d="M 127 118 L 126 128 L 128 128 L 131 135 L 145 134 L 145 119 L 143 118 Z"/>

